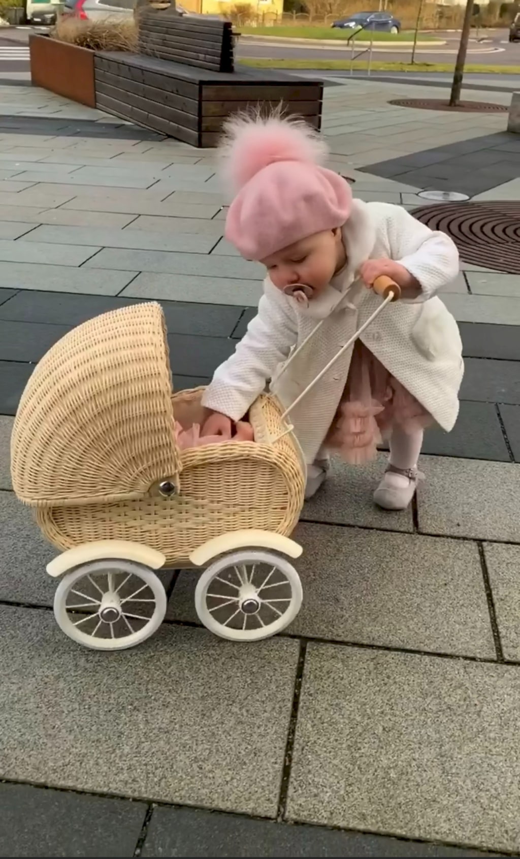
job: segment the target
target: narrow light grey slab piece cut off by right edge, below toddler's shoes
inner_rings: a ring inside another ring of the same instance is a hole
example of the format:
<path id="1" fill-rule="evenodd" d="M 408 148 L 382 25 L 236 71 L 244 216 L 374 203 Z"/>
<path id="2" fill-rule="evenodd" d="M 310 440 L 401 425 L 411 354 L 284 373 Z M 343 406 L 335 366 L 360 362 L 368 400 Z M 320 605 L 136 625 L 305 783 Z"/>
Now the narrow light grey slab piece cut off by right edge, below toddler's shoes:
<path id="1" fill-rule="evenodd" d="M 520 662 L 520 546 L 485 543 L 484 554 L 505 659 Z"/>

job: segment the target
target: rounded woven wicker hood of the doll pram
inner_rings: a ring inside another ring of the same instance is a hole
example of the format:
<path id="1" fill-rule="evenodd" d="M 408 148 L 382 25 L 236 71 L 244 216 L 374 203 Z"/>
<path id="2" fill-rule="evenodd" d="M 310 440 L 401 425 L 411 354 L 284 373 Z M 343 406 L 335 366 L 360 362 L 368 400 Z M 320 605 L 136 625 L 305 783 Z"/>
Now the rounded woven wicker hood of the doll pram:
<path id="1" fill-rule="evenodd" d="M 112 503 L 178 483 L 172 377 L 159 304 L 77 326 L 33 371 L 15 417 L 11 475 L 33 507 Z"/>

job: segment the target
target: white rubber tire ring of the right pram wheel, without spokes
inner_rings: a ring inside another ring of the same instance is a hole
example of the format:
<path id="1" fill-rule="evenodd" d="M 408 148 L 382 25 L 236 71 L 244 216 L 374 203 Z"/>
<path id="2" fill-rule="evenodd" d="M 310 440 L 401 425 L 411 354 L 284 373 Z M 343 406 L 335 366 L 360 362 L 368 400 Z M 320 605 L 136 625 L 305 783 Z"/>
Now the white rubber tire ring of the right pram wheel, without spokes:
<path id="1" fill-rule="evenodd" d="M 237 630 L 226 626 L 225 624 L 221 624 L 220 621 L 216 620 L 213 614 L 209 611 L 206 602 L 206 595 L 211 582 L 214 581 L 215 576 L 219 576 L 224 570 L 238 564 L 269 564 L 275 567 L 276 570 L 280 570 L 281 573 L 286 576 L 287 582 L 291 587 L 290 604 L 281 617 L 276 618 L 273 623 L 256 630 Z M 236 551 L 229 555 L 223 555 L 215 561 L 214 564 L 211 564 L 207 570 L 204 570 L 203 575 L 197 582 L 197 588 L 195 591 L 195 609 L 201 623 L 203 623 L 210 632 L 215 633 L 216 636 L 226 638 L 228 641 L 234 642 L 254 642 L 261 641 L 263 638 L 275 636 L 284 630 L 286 626 L 291 624 L 299 612 L 302 599 L 303 591 L 299 575 L 294 569 L 293 564 L 290 564 L 286 557 L 276 555 L 274 552 L 270 551 L 257 551 L 250 549 Z"/>

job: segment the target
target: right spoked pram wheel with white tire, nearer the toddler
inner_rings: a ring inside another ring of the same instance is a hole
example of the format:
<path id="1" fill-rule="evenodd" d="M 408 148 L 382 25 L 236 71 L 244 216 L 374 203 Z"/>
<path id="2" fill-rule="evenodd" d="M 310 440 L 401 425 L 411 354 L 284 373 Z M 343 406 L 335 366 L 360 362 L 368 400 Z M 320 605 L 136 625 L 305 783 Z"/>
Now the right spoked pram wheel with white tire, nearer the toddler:
<path id="1" fill-rule="evenodd" d="M 209 631 L 258 641 L 285 629 L 299 612 L 299 575 L 285 557 L 246 550 L 220 557 L 197 582 L 195 607 Z"/>

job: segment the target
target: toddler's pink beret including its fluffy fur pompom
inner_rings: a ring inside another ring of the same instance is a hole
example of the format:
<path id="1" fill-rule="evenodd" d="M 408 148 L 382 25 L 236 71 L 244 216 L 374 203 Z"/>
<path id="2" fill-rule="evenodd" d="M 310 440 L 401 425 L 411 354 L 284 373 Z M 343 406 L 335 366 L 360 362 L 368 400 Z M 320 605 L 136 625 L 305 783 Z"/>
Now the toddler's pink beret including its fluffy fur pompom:
<path id="1" fill-rule="evenodd" d="M 246 259 L 266 259 L 314 233 L 341 227 L 352 208 L 347 180 L 323 167 L 329 149 L 301 119 L 235 114 L 218 149 L 234 195 L 226 238 Z"/>

